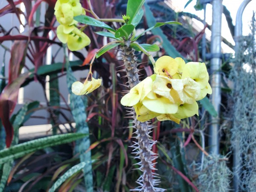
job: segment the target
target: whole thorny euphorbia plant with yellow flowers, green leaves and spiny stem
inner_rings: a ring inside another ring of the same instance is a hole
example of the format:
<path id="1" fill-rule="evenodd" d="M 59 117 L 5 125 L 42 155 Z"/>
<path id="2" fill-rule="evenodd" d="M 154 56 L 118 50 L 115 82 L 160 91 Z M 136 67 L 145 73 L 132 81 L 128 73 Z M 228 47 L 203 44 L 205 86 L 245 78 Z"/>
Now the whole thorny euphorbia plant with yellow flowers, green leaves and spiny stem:
<path id="1" fill-rule="evenodd" d="M 90 0 L 87 2 L 90 5 Z M 159 121 L 172 120 L 179 123 L 180 119 L 198 114 L 196 101 L 204 98 L 207 93 L 211 94 L 211 87 L 208 83 L 209 75 L 204 63 L 190 62 L 185 64 L 182 58 L 169 56 L 160 57 L 155 62 L 149 52 L 158 51 L 159 47 L 156 44 L 137 43 L 137 40 L 151 29 L 165 24 L 180 24 L 172 21 L 156 23 L 155 26 L 136 35 L 135 28 L 143 17 L 142 6 L 144 2 L 145 0 L 128 0 L 126 15 L 123 15 L 122 19 L 101 20 L 92 9 L 85 11 L 90 12 L 94 18 L 84 15 L 85 12 L 80 9 L 81 4 L 76 0 L 58 0 L 55 6 L 55 15 L 61 23 L 58 26 L 57 35 L 61 42 L 67 43 L 70 50 L 78 50 L 90 43 L 88 37 L 82 32 L 87 25 L 106 29 L 107 31 L 96 33 L 113 39 L 95 53 L 84 83 L 79 81 L 73 83 L 72 91 L 74 94 L 87 94 L 100 86 L 101 79 L 92 77 L 91 70 L 95 58 L 114 47 L 118 47 L 122 52 L 122 61 L 124 71 L 127 73 L 127 84 L 130 92 L 122 98 L 121 104 L 133 107 L 130 108 L 129 115 L 133 119 L 134 125 L 132 127 L 136 129 L 137 142 L 132 147 L 135 151 L 135 158 L 140 160 L 137 165 L 143 172 L 137 180 L 140 186 L 133 190 L 151 192 L 164 191 L 164 189 L 156 187 L 159 180 L 156 178 L 157 175 L 154 172 L 155 168 L 152 162 L 157 158 L 157 154 L 151 151 L 156 141 L 151 140 L 149 136 L 153 126 L 148 120 L 157 117 Z M 74 12 L 73 9 L 78 9 L 81 15 Z M 103 21 L 119 22 L 122 23 L 122 26 L 113 29 Z M 79 25 L 81 31 L 77 28 L 78 22 L 84 24 Z M 141 51 L 148 55 L 155 72 L 154 75 L 141 82 L 135 51 Z"/>

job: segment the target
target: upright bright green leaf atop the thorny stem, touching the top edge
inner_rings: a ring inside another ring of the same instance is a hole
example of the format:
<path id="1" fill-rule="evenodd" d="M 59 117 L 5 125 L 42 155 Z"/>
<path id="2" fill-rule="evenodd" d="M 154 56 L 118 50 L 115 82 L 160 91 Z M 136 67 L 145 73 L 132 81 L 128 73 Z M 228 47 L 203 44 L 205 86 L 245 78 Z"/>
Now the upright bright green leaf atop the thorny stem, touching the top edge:
<path id="1" fill-rule="evenodd" d="M 145 0 L 128 0 L 127 8 L 126 8 L 126 15 L 130 16 L 130 20 L 128 21 L 128 24 L 132 23 L 134 17 L 142 8 L 144 3 L 145 3 Z"/>

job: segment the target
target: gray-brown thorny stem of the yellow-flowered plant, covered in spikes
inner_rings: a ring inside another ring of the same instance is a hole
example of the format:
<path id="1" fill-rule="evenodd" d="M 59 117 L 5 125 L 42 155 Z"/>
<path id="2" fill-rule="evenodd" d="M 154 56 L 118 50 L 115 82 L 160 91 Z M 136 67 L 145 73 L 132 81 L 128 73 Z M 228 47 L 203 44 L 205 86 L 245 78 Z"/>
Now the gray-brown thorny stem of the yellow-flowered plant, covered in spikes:
<path id="1" fill-rule="evenodd" d="M 128 44 L 128 42 L 126 43 Z M 123 46 L 122 51 L 122 60 L 124 61 L 125 70 L 127 72 L 129 88 L 131 89 L 140 82 L 136 63 L 137 58 L 134 56 L 134 49 L 130 48 L 129 45 Z M 137 165 L 140 166 L 139 170 L 143 172 L 137 180 L 137 183 L 140 186 L 132 190 L 143 192 L 164 191 L 164 189 L 155 187 L 160 180 L 155 179 L 157 174 L 153 172 L 153 170 L 156 169 L 154 168 L 154 163 L 152 163 L 152 161 L 157 158 L 157 154 L 151 151 L 152 146 L 156 142 L 151 140 L 151 137 L 149 136 L 149 131 L 153 126 L 148 125 L 148 122 L 138 121 L 134 109 L 132 109 L 129 114 L 132 115 L 131 118 L 134 119 L 134 126 L 132 127 L 136 128 L 135 134 L 137 134 L 136 139 L 138 140 L 131 147 L 134 148 L 133 151 L 135 151 L 134 154 L 136 154 L 134 158 L 140 160 L 140 162 L 137 163 Z"/>

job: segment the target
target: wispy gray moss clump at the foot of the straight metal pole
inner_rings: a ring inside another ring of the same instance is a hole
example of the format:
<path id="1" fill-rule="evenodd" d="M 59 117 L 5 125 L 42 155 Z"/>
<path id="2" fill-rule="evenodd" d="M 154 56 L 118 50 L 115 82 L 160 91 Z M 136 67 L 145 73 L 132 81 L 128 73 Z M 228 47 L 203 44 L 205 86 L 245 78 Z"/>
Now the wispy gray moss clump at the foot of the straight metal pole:
<path id="1" fill-rule="evenodd" d="M 227 167 L 227 158 L 221 155 L 204 157 L 203 163 L 193 162 L 189 175 L 200 192 L 227 192 L 230 190 L 232 172 Z"/>

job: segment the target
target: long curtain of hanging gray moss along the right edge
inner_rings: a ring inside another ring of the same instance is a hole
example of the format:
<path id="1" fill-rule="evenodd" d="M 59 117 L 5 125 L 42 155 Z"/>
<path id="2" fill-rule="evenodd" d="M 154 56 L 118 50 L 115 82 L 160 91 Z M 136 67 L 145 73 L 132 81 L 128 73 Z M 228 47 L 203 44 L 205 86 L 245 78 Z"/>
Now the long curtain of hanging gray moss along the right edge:
<path id="1" fill-rule="evenodd" d="M 234 175 L 238 190 L 256 191 L 256 21 L 251 33 L 241 40 L 230 79 L 233 88 L 232 146 L 237 165 Z"/>

